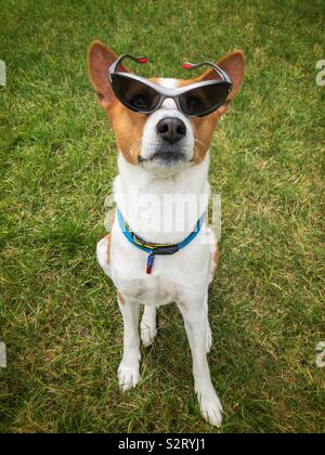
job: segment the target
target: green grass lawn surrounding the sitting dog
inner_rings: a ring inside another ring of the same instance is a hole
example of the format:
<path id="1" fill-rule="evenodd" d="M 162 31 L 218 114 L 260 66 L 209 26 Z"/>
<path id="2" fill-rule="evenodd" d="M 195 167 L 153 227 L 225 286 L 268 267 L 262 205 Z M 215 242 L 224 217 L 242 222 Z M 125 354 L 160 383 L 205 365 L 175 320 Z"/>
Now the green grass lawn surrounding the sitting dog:
<path id="1" fill-rule="evenodd" d="M 200 418 L 172 307 L 143 351 L 140 387 L 118 391 L 122 323 L 94 255 L 116 173 L 86 72 L 100 38 L 171 77 L 183 58 L 244 50 L 243 90 L 211 146 L 221 431 L 324 432 L 324 1 L 2 0 L 0 11 L 0 431 L 217 431 Z"/>

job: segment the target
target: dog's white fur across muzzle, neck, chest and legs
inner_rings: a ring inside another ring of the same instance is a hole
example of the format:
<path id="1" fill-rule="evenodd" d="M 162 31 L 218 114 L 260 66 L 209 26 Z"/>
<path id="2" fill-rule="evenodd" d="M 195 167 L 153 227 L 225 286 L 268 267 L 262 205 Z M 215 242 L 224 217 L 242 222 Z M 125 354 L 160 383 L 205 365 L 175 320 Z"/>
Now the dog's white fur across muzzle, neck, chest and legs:
<path id="1" fill-rule="evenodd" d="M 176 83 L 165 79 L 169 87 Z M 169 101 L 169 100 L 167 100 Z M 173 102 L 172 102 L 173 103 Z M 172 104 L 164 105 L 152 114 L 144 129 L 142 155 L 150 156 L 155 142 L 155 126 L 166 115 L 177 115 L 186 121 L 187 134 L 184 141 L 186 154 L 193 154 L 194 138 L 191 123 Z M 209 194 L 208 168 L 209 156 L 198 166 L 185 165 L 177 172 L 159 173 L 146 167 L 127 162 L 120 154 L 118 159 L 119 176 L 114 182 L 115 199 L 129 222 L 131 229 L 136 225 L 136 233 L 147 242 L 178 243 L 193 231 L 197 218 L 207 208 L 207 200 L 196 205 L 184 217 L 183 232 L 165 232 L 147 222 L 159 217 L 159 204 L 164 195 Z M 145 209 L 134 205 L 132 195 L 138 197 L 152 194 L 156 203 Z M 206 198 L 207 199 L 207 198 Z M 171 203 L 170 203 L 171 204 Z M 168 203 L 167 203 L 168 206 Z M 167 213 L 170 207 L 167 207 Z M 145 211 L 145 213 L 144 213 Z M 165 218 L 167 216 L 164 216 Z M 174 218 L 171 212 L 169 217 Z M 165 220 L 166 221 L 166 220 Z M 168 220 L 172 222 L 173 220 Z M 208 285 L 213 269 L 214 248 L 211 242 L 204 242 L 212 233 L 204 224 L 196 238 L 184 249 L 172 256 L 157 256 L 152 275 L 145 273 L 147 253 L 131 245 L 123 236 L 117 220 L 112 230 L 110 263 L 107 259 L 107 239 L 98 245 L 98 258 L 105 273 L 113 280 L 122 296 L 119 308 L 125 323 L 123 356 L 118 369 L 121 389 L 128 390 L 140 380 L 140 304 L 145 306 L 141 322 L 141 338 L 144 346 L 150 346 L 156 336 L 156 308 L 176 302 L 185 323 L 185 329 L 193 356 L 195 391 L 202 414 L 211 425 L 220 426 L 222 406 L 210 379 L 207 352 L 211 347 L 211 330 L 208 322 Z"/>

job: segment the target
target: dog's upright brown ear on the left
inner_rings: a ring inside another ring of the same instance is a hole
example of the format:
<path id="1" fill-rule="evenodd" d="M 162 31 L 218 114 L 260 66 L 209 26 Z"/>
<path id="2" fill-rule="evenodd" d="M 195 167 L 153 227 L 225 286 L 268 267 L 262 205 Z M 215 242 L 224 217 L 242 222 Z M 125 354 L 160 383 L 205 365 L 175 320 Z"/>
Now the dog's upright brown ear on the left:
<path id="1" fill-rule="evenodd" d="M 96 92 L 99 103 L 104 108 L 116 100 L 108 79 L 108 68 L 116 60 L 116 53 L 101 41 L 93 41 L 88 49 L 89 78 Z M 119 68 L 122 72 L 128 72 L 122 65 L 119 65 Z"/>

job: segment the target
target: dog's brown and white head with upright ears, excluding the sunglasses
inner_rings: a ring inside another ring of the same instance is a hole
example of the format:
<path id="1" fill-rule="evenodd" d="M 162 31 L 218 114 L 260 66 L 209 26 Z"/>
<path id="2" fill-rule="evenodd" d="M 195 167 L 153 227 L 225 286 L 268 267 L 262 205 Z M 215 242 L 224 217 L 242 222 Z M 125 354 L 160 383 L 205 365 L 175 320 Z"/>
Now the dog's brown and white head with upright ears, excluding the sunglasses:
<path id="1" fill-rule="evenodd" d="M 208 152 L 218 119 L 226 112 L 242 86 L 245 72 L 242 51 L 234 51 L 217 63 L 227 73 L 233 83 L 226 102 L 209 115 L 191 118 L 178 108 L 172 99 L 166 99 L 157 110 L 148 115 L 127 108 L 114 94 L 108 79 L 108 67 L 116 60 L 117 55 L 100 41 L 94 41 L 89 48 L 90 80 L 99 103 L 110 120 L 118 148 L 125 159 L 161 176 L 200 164 Z M 122 72 L 129 72 L 125 66 L 120 67 Z M 208 69 L 193 79 L 152 78 L 150 80 L 176 89 L 217 78 L 216 72 Z"/>

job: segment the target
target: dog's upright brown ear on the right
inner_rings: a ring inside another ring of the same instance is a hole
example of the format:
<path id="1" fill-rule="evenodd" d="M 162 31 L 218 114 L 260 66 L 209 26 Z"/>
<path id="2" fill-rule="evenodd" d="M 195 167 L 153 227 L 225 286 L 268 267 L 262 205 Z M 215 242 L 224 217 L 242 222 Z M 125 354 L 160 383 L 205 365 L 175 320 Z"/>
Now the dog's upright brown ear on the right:
<path id="1" fill-rule="evenodd" d="M 227 95 L 226 103 L 217 109 L 219 115 L 222 115 L 226 112 L 230 102 L 236 96 L 242 87 L 245 74 L 245 57 L 242 51 L 234 51 L 216 62 L 216 65 L 225 70 L 233 82 L 233 89 Z M 220 77 L 216 75 L 214 69 L 208 69 L 202 76 L 202 80 L 205 79 L 220 79 Z"/>

